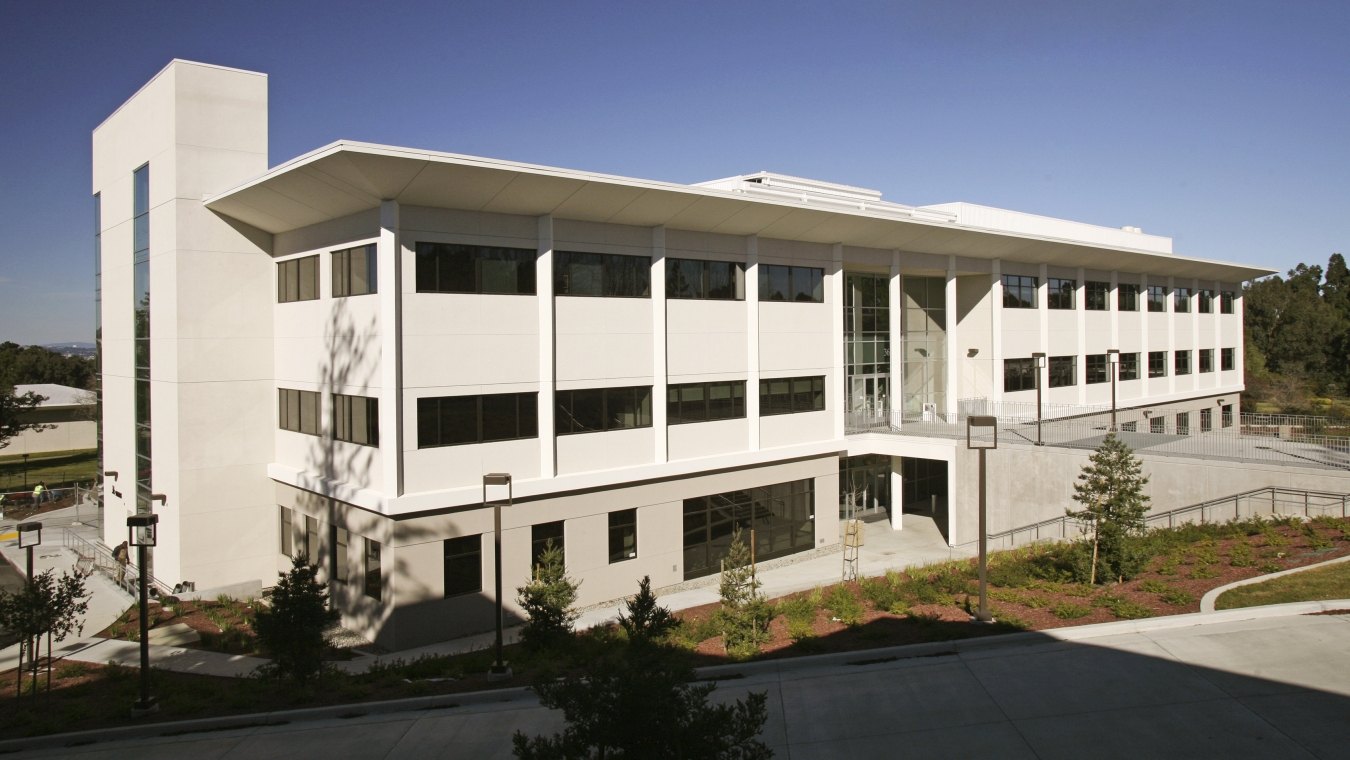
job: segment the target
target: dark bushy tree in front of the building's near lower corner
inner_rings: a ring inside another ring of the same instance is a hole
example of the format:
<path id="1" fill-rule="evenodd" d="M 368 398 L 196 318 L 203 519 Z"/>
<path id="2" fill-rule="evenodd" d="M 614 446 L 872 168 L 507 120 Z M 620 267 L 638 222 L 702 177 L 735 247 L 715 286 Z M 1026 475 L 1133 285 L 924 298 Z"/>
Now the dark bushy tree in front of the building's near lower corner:
<path id="1" fill-rule="evenodd" d="M 328 609 L 328 590 L 319 583 L 319 566 L 302 555 L 292 560 L 289 572 L 277 576 L 271 606 L 258 610 L 254 630 L 271 657 L 277 676 L 304 683 L 320 674 L 324 664 L 324 630 L 338 621 Z"/>

